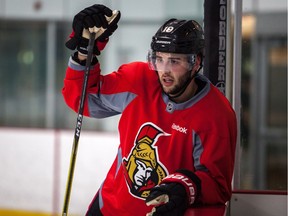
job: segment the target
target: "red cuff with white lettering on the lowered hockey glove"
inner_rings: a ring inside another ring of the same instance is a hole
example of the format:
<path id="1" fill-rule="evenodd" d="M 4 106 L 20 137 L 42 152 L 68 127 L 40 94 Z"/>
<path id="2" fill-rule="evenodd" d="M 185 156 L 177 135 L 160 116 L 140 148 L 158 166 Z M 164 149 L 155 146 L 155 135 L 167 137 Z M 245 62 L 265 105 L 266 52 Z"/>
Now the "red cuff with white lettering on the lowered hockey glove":
<path id="1" fill-rule="evenodd" d="M 166 176 L 162 183 L 180 183 L 185 187 L 188 204 L 192 205 L 198 198 L 201 191 L 200 179 L 191 171 L 177 170 L 175 173 Z"/>

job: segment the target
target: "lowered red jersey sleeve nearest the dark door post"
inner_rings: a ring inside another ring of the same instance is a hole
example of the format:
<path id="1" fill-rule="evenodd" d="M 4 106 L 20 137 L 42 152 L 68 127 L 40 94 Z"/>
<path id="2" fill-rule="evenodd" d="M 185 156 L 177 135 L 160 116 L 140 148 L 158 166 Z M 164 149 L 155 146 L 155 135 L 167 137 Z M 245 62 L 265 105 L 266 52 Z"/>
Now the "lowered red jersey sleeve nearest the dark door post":
<path id="1" fill-rule="evenodd" d="M 237 124 L 235 113 L 228 103 L 223 99 L 225 106 L 207 112 L 202 119 L 205 129 L 197 134 L 202 152 L 195 174 L 201 180 L 200 202 L 203 204 L 225 204 L 231 198 Z"/>

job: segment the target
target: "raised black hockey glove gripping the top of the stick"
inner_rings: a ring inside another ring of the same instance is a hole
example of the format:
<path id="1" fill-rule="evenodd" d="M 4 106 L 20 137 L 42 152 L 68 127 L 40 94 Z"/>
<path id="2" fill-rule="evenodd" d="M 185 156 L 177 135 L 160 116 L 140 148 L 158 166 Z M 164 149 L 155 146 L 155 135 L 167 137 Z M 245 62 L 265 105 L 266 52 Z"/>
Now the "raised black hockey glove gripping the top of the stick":
<path id="1" fill-rule="evenodd" d="M 71 50 L 77 48 L 82 55 L 87 55 L 89 31 L 94 31 L 97 40 L 93 54 L 100 55 L 100 51 L 104 49 L 109 36 L 118 28 L 119 19 L 120 11 L 113 13 L 111 9 L 104 5 L 95 4 L 83 9 L 74 16 L 73 32 L 70 39 L 65 43 L 66 47 Z"/>

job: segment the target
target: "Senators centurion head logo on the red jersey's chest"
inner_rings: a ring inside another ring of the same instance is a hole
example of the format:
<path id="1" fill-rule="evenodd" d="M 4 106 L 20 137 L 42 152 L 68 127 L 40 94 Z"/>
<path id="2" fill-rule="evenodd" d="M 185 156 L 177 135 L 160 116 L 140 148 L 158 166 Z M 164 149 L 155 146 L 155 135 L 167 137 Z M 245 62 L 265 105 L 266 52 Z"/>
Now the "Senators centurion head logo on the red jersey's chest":
<path id="1" fill-rule="evenodd" d="M 141 126 L 135 139 L 134 147 L 127 158 L 123 158 L 125 178 L 130 193 L 145 199 L 150 189 L 167 176 L 167 169 L 158 158 L 157 140 L 160 136 L 170 136 L 153 123 Z"/>

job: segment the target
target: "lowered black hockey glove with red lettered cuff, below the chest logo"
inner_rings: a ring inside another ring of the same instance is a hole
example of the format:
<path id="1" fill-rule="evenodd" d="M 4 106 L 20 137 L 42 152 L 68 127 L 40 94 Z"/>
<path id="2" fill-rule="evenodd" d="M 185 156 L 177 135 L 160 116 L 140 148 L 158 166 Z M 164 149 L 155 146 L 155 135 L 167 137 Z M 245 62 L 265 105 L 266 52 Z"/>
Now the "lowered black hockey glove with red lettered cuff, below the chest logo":
<path id="1" fill-rule="evenodd" d="M 151 189 L 146 198 L 154 206 L 149 216 L 183 216 L 200 194 L 200 179 L 191 171 L 178 170 Z"/>

